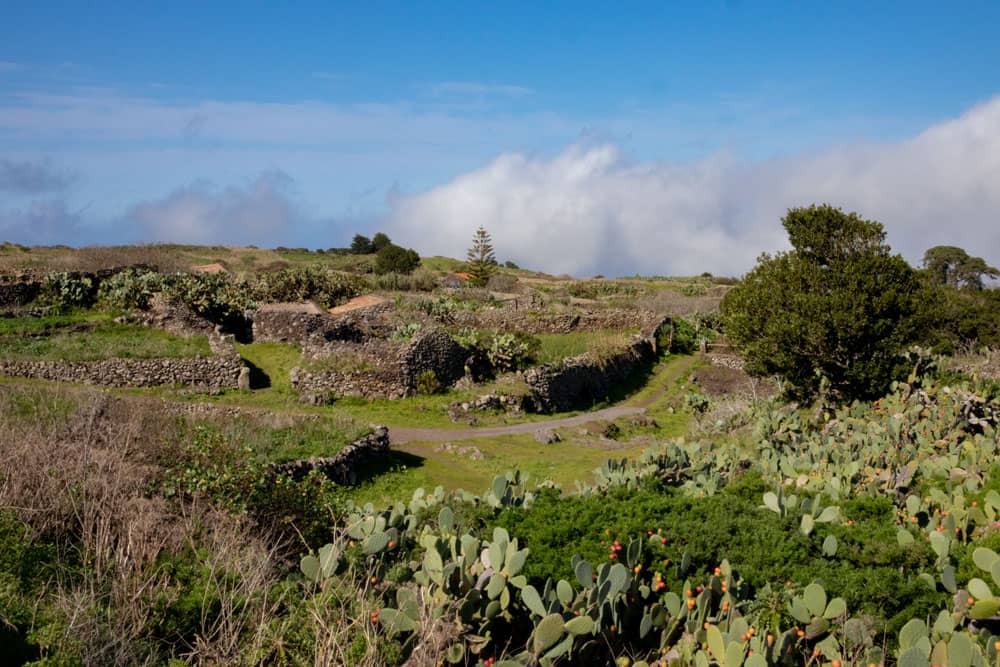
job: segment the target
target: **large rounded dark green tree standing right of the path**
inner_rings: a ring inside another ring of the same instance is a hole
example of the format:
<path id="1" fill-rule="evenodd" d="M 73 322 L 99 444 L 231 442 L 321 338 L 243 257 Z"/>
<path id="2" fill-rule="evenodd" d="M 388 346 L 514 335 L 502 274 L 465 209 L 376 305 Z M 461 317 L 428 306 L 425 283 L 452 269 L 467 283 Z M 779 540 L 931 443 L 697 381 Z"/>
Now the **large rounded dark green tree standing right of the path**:
<path id="1" fill-rule="evenodd" d="M 871 398 L 916 338 L 916 272 L 882 225 L 824 204 L 782 219 L 793 250 L 764 254 L 723 299 L 722 318 L 747 370 L 780 375 L 790 396 Z"/>

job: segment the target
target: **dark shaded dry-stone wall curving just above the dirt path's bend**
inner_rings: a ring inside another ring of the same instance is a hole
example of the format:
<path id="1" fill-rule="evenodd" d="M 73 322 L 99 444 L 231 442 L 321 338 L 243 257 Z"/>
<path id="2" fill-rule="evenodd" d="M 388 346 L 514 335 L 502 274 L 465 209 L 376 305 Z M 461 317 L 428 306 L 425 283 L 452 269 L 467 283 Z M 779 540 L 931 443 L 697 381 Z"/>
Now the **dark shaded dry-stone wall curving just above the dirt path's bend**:
<path id="1" fill-rule="evenodd" d="M 529 400 L 536 412 L 563 412 L 589 408 L 603 401 L 636 373 L 656 361 L 656 342 L 637 338 L 621 351 L 596 359 L 590 354 L 543 364 L 524 372 Z"/>

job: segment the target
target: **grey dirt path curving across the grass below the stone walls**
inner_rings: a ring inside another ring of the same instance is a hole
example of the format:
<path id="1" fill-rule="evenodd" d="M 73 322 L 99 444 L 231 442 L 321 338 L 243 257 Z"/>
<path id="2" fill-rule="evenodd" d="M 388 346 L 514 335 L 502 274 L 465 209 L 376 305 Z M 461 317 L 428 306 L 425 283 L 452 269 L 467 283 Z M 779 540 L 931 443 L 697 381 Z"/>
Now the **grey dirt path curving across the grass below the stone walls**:
<path id="1" fill-rule="evenodd" d="M 671 363 L 662 373 L 654 378 L 659 385 L 659 389 L 651 396 L 635 401 L 633 405 L 615 405 L 610 408 L 594 410 L 572 417 L 561 417 L 558 419 L 548 419 L 537 422 L 527 422 L 523 424 L 510 424 L 508 426 L 483 426 L 480 428 L 466 429 L 439 429 L 439 428 L 390 428 L 389 439 L 394 445 L 401 445 L 407 442 L 445 442 L 448 440 L 473 440 L 475 438 L 495 438 L 501 435 L 525 435 L 554 428 L 564 428 L 567 426 L 577 426 L 596 420 L 612 420 L 618 417 L 638 415 L 646 412 L 646 408 L 663 398 L 663 395 L 670 390 L 670 386 L 683 373 L 691 368 L 695 362 L 694 357 L 681 357 Z"/>

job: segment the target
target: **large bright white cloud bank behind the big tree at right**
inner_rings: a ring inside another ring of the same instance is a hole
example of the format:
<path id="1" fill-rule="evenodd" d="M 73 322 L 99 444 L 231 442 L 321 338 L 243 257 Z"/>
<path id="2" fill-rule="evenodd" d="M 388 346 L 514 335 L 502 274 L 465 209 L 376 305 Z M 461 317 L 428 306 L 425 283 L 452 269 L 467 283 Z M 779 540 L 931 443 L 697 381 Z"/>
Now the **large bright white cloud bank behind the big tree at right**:
<path id="1" fill-rule="evenodd" d="M 762 162 L 636 163 L 612 146 L 504 154 L 398 199 L 389 227 L 460 257 L 483 225 L 501 259 L 557 273 L 733 275 L 786 247 L 781 216 L 813 202 L 879 220 L 912 262 L 951 244 L 1000 263 L 1000 97 L 898 143 Z"/>

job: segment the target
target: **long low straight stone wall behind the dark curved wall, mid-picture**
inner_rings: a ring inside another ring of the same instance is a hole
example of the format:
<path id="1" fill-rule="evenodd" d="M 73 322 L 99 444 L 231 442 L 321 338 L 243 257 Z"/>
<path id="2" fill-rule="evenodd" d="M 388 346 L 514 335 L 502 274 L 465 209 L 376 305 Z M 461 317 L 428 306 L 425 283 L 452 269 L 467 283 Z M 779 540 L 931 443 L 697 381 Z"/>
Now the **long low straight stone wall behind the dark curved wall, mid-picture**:
<path id="1" fill-rule="evenodd" d="M 477 329 L 524 331 L 526 333 L 570 333 L 638 329 L 644 334 L 659 324 L 662 316 L 641 310 L 596 310 L 581 313 L 537 313 L 508 309 L 459 311 L 454 314 L 458 326 Z"/>

